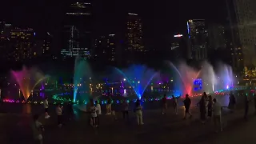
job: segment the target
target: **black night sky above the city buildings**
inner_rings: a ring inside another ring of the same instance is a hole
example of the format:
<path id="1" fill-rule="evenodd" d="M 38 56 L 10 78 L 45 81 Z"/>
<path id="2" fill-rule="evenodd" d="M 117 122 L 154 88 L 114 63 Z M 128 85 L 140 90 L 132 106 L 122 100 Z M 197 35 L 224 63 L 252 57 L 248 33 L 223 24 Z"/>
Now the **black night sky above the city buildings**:
<path id="1" fill-rule="evenodd" d="M 66 6 L 74 0 L 8 0 L 1 2 L 0 20 L 16 26 L 30 26 L 37 33 L 50 31 L 58 46 Z M 226 20 L 224 0 L 94 0 L 94 34 L 120 32 L 126 25 L 126 14 L 137 13 L 143 22 L 146 46 L 160 49 L 174 32 L 186 31 L 186 20 L 206 19 L 223 23 Z M 58 48 L 56 48 L 57 50 Z"/>

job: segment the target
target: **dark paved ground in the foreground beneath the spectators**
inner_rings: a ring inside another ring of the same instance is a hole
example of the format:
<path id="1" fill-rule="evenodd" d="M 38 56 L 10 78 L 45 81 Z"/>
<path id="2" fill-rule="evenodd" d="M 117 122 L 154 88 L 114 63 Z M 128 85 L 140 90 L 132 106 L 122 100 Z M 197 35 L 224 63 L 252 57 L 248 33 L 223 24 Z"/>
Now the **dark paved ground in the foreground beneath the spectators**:
<path id="1" fill-rule="evenodd" d="M 33 108 L 33 107 L 32 107 Z M 38 110 L 39 112 L 40 110 Z M 50 110 L 50 119 L 45 119 L 41 110 L 40 121 L 45 125 L 44 143 L 49 144 L 82 144 L 82 143 L 252 143 L 256 128 L 254 107 L 250 106 L 250 118 L 245 121 L 243 111 L 237 110 L 230 114 L 223 110 L 224 130 L 215 134 L 213 122 L 208 120 L 205 125 L 198 121 L 198 108 L 192 108 L 194 117 L 182 120 L 183 108 L 178 115 L 173 114 L 171 107 L 166 115 L 161 110 L 144 110 L 144 126 L 137 126 L 134 113 L 130 111 L 130 122 L 122 120 L 117 112 L 118 120 L 102 115 L 100 126 L 92 128 L 88 124 L 88 115 L 78 112 L 73 121 L 58 128 L 54 110 Z M 31 114 L 0 114 L 0 142 L 34 143 L 30 130 Z"/>

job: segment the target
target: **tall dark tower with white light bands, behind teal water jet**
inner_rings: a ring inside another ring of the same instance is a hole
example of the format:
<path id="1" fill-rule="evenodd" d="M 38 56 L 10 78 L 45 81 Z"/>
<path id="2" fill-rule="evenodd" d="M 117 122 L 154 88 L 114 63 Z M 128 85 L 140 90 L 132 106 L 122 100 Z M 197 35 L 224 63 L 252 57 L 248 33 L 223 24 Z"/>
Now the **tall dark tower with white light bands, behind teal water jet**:
<path id="1" fill-rule="evenodd" d="M 66 12 L 62 34 L 62 58 L 90 58 L 91 50 L 91 3 L 75 2 Z"/>

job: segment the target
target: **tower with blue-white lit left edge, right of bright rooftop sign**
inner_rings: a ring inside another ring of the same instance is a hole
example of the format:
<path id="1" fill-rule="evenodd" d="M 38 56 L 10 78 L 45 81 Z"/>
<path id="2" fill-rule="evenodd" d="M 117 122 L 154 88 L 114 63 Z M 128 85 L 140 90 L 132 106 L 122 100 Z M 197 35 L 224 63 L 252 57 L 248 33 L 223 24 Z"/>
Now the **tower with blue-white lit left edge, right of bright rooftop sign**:
<path id="1" fill-rule="evenodd" d="M 204 19 L 190 19 L 187 22 L 187 33 L 190 41 L 190 58 L 204 60 L 207 58 L 208 32 Z"/>

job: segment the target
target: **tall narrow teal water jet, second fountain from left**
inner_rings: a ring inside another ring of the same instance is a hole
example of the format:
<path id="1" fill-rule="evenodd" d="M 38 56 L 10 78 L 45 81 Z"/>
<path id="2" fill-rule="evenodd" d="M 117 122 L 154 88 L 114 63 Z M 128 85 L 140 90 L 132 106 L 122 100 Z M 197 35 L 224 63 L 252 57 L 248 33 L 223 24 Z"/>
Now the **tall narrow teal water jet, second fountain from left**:
<path id="1" fill-rule="evenodd" d="M 82 100 L 88 102 L 90 99 L 89 82 L 91 81 L 91 71 L 89 63 L 86 60 L 76 58 L 74 63 L 74 102 Z M 79 94 L 83 91 L 83 94 Z M 78 98 L 79 95 L 79 98 Z"/>

